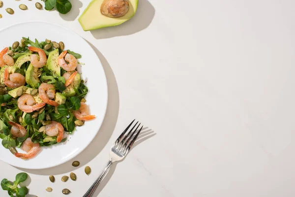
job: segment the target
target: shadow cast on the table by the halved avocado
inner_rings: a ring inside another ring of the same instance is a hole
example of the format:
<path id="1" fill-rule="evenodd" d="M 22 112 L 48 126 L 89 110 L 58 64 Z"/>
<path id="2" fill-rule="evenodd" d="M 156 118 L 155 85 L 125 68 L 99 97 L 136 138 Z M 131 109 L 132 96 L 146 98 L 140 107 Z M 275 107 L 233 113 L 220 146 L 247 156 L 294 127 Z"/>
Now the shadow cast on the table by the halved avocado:
<path id="1" fill-rule="evenodd" d="M 139 0 L 137 11 L 132 19 L 118 26 L 91 30 L 90 32 L 96 39 L 130 35 L 146 29 L 154 15 L 155 8 L 150 2 L 148 0 Z"/>

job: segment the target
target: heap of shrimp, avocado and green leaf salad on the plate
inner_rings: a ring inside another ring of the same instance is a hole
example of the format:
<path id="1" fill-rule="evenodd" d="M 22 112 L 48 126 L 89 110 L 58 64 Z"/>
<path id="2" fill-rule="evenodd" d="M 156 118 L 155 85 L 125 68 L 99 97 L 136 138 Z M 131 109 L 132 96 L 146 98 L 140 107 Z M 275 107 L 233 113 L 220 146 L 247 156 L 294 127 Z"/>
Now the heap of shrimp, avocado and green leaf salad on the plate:
<path id="1" fill-rule="evenodd" d="M 77 72 L 81 55 L 63 49 L 62 42 L 23 37 L 0 52 L 0 138 L 16 157 L 33 158 L 42 146 L 64 142 L 64 132 L 95 118 Z"/>

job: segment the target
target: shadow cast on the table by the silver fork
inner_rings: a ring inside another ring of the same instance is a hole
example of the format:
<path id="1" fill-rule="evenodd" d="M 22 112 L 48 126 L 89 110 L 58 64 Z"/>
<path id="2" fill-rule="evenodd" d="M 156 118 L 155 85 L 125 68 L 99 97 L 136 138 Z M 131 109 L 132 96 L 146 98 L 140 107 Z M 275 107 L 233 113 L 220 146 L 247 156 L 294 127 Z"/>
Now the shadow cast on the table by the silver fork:
<path id="1" fill-rule="evenodd" d="M 136 146 L 138 146 L 140 143 L 146 141 L 148 138 L 151 138 L 152 136 L 154 136 L 156 133 L 154 131 L 152 131 L 151 129 L 148 129 L 148 127 L 145 127 L 142 129 L 142 131 L 140 132 L 140 134 L 138 135 L 136 141 L 134 142 L 132 148 L 130 149 L 128 155 L 130 154 L 130 152 L 132 151 L 133 148 L 135 148 Z M 131 152 L 132 154 L 132 152 Z M 127 158 L 128 155 L 125 157 Z M 99 184 L 99 186 L 97 187 L 93 197 L 97 197 L 99 195 L 99 193 L 103 190 L 103 188 L 107 185 L 107 183 L 109 182 L 109 180 L 111 179 L 111 177 L 113 176 L 117 164 L 121 163 L 125 160 L 125 158 L 119 162 L 116 162 L 112 165 L 109 173 L 104 177 L 104 179 L 101 181 L 101 183 Z"/>

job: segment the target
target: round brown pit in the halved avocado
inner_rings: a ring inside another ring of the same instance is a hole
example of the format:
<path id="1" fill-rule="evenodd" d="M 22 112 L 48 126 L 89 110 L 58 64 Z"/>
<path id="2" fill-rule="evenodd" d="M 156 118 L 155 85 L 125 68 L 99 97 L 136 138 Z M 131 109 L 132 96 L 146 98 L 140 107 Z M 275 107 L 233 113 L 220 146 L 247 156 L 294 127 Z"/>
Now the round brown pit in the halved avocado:
<path id="1" fill-rule="evenodd" d="M 124 16 L 129 10 L 128 0 L 104 0 L 100 7 L 100 12 L 111 18 Z"/>

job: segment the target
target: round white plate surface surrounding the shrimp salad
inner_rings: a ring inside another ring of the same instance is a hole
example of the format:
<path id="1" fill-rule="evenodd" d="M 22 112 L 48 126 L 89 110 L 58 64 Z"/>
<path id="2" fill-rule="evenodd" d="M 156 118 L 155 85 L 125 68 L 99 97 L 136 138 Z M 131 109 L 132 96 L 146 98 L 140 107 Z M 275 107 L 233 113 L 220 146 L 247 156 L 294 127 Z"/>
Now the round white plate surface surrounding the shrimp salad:
<path id="1" fill-rule="evenodd" d="M 31 40 L 37 38 L 44 41 L 46 38 L 52 41 L 63 41 L 65 49 L 69 49 L 82 55 L 79 62 L 82 79 L 87 81 L 89 88 L 86 97 L 90 107 L 90 113 L 96 115 L 96 119 L 85 122 L 82 127 L 77 127 L 68 140 L 62 144 L 50 147 L 42 147 L 42 151 L 33 159 L 22 160 L 16 158 L 0 144 L 0 160 L 7 164 L 28 169 L 41 169 L 53 167 L 74 158 L 83 151 L 92 141 L 99 130 L 105 116 L 108 100 L 107 82 L 103 67 L 91 48 L 91 46 L 78 34 L 59 25 L 45 22 L 28 22 L 13 25 L 0 31 L 0 50 L 11 46 L 14 41 L 28 37 Z M 20 151 L 21 152 L 21 151 Z"/>

